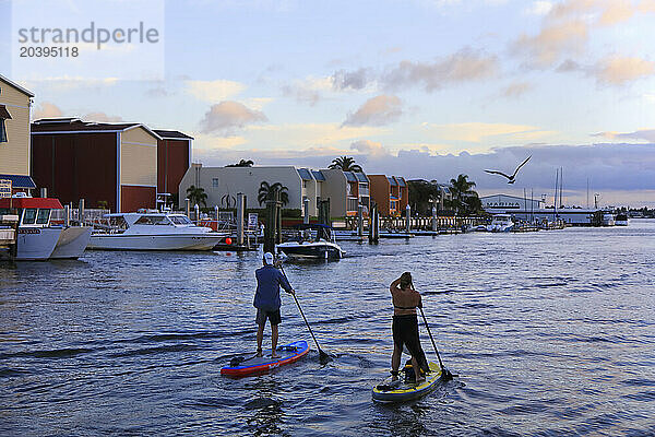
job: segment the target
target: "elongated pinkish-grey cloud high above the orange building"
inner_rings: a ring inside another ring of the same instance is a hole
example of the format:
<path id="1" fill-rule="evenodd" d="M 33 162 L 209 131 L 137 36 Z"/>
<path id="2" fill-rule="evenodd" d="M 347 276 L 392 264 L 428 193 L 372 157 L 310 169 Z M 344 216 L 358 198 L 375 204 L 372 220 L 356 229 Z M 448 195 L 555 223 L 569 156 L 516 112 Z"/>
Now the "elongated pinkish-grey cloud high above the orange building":
<path id="1" fill-rule="evenodd" d="M 427 92 L 432 92 L 452 83 L 490 78 L 497 71 L 496 56 L 465 48 L 434 62 L 402 61 L 380 80 L 389 90 L 420 84 Z"/>

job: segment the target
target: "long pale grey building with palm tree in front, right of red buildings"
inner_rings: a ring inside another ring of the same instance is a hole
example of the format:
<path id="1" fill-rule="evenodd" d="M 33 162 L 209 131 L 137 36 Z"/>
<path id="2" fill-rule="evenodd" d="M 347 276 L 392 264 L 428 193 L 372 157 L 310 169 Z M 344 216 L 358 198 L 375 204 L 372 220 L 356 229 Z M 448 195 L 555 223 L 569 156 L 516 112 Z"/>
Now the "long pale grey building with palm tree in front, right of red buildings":
<path id="1" fill-rule="evenodd" d="M 179 185 L 179 206 L 184 208 L 187 190 L 199 187 L 207 194 L 207 206 L 234 208 L 237 193 L 246 194 L 246 208 L 265 208 L 258 194 L 262 182 L 282 184 L 286 187 L 289 201 L 284 209 L 303 211 L 303 201 L 309 201 L 309 214 L 318 215 L 318 202 L 324 196 L 323 172 L 294 166 L 253 167 L 204 167 L 192 164 Z"/>

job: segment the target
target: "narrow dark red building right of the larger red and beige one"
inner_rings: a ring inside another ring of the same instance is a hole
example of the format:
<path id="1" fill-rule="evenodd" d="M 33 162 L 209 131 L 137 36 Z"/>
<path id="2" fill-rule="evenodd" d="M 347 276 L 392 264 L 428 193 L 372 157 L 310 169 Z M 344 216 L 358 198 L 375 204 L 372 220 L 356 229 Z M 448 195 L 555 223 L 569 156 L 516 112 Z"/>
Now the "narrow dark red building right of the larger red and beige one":
<path id="1" fill-rule="evenodd" d="M 191 166 L 193 138 L 177 130 L 154 129 L 157 141 L 157 192 L 177 193 Z"/>

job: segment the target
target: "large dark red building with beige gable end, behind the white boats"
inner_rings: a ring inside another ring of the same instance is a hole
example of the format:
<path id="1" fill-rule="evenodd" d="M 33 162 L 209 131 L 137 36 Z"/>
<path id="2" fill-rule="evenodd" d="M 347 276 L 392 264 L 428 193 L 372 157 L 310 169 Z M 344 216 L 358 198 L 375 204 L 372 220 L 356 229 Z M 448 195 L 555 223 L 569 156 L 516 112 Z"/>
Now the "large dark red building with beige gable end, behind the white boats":
<path id="1" fill-rule="evenodd" d="M 157 133 L 141 123 L 52 118 L 32 123 L 32 174 L 62 203 L 115 212 L 155 208 Z"/>

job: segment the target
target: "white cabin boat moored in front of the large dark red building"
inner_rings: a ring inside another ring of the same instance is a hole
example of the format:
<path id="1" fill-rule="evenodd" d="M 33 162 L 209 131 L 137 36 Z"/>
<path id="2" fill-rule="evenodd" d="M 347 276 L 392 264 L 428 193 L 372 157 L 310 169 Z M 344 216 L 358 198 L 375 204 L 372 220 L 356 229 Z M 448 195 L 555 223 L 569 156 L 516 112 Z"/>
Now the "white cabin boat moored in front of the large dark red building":
<path id="1" fill-rule="evenodd" d="M 146 211 L 106 214 L 109 226 L 91 236 L 96 250 L 212 250 L 229 233 L 194 225 L 183 214 Z"/>

